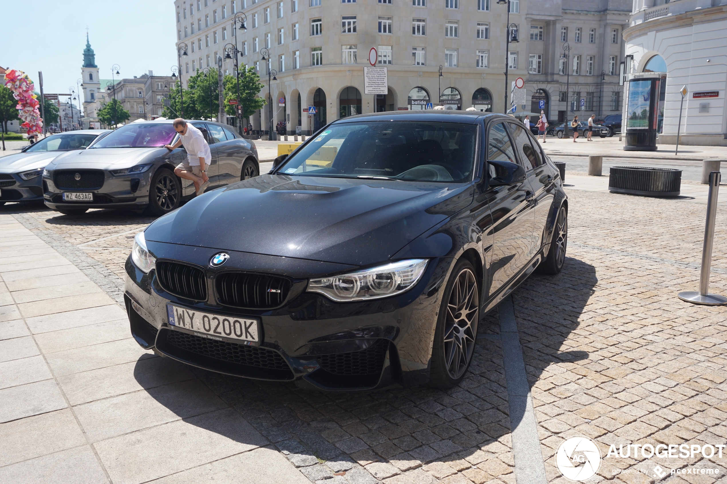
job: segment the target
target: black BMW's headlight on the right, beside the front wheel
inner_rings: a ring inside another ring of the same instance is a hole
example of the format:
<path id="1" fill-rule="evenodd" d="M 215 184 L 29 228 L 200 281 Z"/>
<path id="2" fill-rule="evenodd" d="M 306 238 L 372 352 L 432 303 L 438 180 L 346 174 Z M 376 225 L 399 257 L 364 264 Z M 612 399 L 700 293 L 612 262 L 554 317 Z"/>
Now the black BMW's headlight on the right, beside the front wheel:
<path id="1" fill-rule="evenodd" d="M 388 298 L 414 287 L 424 274 L 427 262 L 427 259 L 409 259 L 340 276 L 310 279 L 308 291 L 320 292 L 341 303 Z"/>

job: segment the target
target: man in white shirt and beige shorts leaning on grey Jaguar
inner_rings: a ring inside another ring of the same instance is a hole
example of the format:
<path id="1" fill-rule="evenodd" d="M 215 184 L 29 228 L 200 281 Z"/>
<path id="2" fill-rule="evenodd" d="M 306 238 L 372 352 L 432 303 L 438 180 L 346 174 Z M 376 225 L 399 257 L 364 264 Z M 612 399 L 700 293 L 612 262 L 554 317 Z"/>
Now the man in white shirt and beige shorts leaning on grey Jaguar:
<path id="1" fill-rule="evenodd" d="M 185 180 L 193 181 L 197 194 L 201 195 L 204 193 L 206 186 L 209 185 L 207 167 L 212 161 L 209 144 L 204 140 L 201 131 L 182 118 L 174 120 L 174 131 L 180 134 L 180 139 L 173 146 L 167 144 L 164 147 L 172 150 L 183 144 L 184 149 L 187 150 L 187 160 L 182 161 L 177 165 L 177 168 L 174 168 L 174 174 Z"/>

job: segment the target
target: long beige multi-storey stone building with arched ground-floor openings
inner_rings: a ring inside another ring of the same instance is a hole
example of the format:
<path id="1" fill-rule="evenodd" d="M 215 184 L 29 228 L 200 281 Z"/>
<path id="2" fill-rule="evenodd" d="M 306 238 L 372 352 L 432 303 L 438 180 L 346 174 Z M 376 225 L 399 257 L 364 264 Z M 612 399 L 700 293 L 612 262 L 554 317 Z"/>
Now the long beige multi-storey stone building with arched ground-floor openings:
<path id="1" fill-rule="evenodd" d="M 518 42 L 506 56 L 508 7 L 494 0 L 175 0 L 182 82 L 218 57 L 233 73 L 225 46 L 237 44 L 239 62 L 257 67 L 266 84 L 261 97 L 268 97 L 268 62 L 277 71 L 270 86 L 273 123 L 283 120 L 289 133 L 374 109 L 424 109 L 427 102 L 503 112 L 510 108 L 505 92 L 518 77 L 526 81 L 526 104 L 516 114 L 539 112 L 545 100 L 550 120 L 565 118 L 582 109 L 581 99 L 588 114 L 620 112 L 617 70 L 628 0 L 509 5 Z M 244 30 L 235 28 L 241 14 Z M 571 46 L 567 65 L 564 41 Z M 387 94 L 365 94 L 371 48 L 377 65 L 387 67 Z M 262 60 L 262 49 L 269 60 Z M 317 111 L 311 118 L 309 106 Z M 252 124 L 268 129 L 270 104 Z"/>

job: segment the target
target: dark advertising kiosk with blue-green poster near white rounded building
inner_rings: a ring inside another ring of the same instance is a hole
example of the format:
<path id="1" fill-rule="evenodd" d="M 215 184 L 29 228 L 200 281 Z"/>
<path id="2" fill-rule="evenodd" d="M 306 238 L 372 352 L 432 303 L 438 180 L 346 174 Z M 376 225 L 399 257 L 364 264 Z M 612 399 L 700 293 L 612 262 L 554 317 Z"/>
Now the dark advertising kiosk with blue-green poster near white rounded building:
<path id="1" fill-rule="evenodd" d="M 664 119 L 665 73 L 627 76 L 626 151 L 656 151 L 656 135 Z"/>

